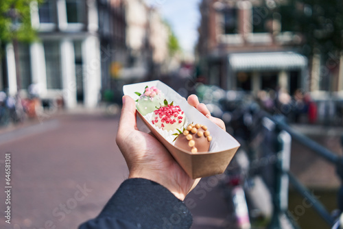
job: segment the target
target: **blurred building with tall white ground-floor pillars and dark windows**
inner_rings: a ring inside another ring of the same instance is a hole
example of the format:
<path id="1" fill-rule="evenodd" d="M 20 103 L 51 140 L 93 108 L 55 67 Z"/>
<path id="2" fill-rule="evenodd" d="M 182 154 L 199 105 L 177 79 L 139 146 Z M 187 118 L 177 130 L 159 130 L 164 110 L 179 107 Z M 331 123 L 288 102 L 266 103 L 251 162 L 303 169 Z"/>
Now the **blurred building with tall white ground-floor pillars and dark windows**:
<path id="1" fill-rule="evenodd" d="M 20 82 L 12 44 L 5 50 L 4 88 L 14 95 L 34 93 L 42 99 L 63 99 L 67 108 L 78 102 L 97 105 L 101 87 L 101 56 L 96 0 L 47 0 L 31 5 L 32 26 L 39 40 L 19 44 Z"/>

